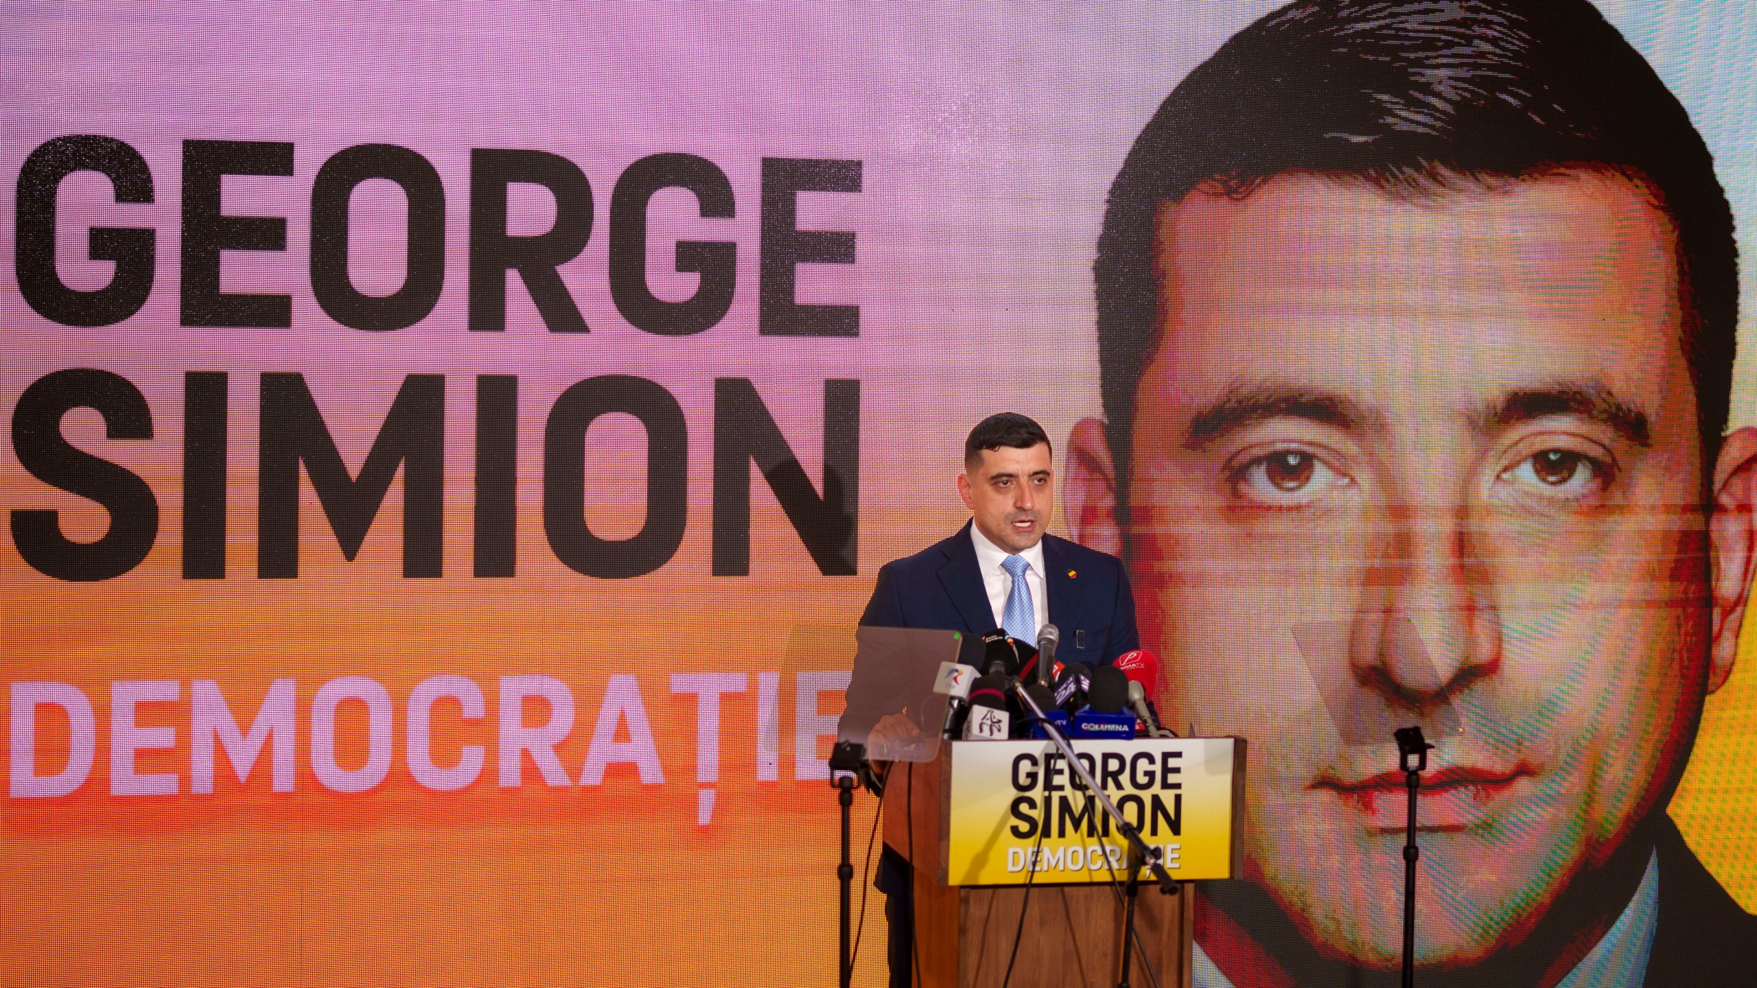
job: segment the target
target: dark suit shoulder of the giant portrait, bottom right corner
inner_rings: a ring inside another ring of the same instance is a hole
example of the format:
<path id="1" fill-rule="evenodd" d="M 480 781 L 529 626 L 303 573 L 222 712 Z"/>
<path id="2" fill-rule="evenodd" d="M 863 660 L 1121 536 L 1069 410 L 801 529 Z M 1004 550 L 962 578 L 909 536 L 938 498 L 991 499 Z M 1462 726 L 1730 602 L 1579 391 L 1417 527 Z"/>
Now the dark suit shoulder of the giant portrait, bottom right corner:
<path id="1" fill-rule="evenodd" d="M 1757 984 L 1757 916 L 1727 895 L 1669 817 L 1660 821 L 1653 847 L 1659 853 L 1659 926 L 1645 984 Z"/>

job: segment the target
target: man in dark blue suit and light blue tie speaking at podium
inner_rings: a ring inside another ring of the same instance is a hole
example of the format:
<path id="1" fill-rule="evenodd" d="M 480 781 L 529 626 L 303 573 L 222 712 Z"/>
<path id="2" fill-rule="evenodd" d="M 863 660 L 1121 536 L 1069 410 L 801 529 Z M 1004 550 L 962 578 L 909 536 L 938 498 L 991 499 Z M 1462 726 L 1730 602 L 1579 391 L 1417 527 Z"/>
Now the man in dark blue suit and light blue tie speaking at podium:
<path id="1" fill-rule="evenodd" d="M 1054 455 L 1044 427 L 1012 411 L 991 415 L 965 440 L 958 496 L 970 522 L 958 534 L 884 564 L 861 624 L 944 628 L 968 642 L 994 628 L 1037 642 L 1044 624 L 1061 631 L 1056 656 L 1093 666 L 1140 647 L 1135 598 L 1123 563 L 1047 534 L 1054 517 Z M 850 687 L 849 694 L 859 691 Z M 891 714 L 891 712 L 875 712 Z M 900 714 L 875 733 L 915 730 Z M 908 861 L 889 846 L 877 883 L 891 925 L 891 984 L 908 988 L 914 895 Z"/>

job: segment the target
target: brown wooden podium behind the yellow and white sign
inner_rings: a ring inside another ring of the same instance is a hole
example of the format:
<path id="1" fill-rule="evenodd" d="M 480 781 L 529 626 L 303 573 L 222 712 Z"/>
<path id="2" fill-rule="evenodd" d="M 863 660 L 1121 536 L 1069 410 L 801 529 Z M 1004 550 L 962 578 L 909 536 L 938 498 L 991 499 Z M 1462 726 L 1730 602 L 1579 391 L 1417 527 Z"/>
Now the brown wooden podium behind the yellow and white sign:
<path id="1" fill-rule="evenodd" d="M 1051 877 L 1037 874 L 1031 881 L 1023 928 L 1021 905 L 1026 905 L 1026 888 L 1023 884 L 963 884 L 959 883 L 959 875 L 949 874 L 949 858 L 956 856 L 952 832 L 954 826 L 963 826 L 952 819 L 959 812 L 952 800 L 952 774 L 954 761 L 958 761 L 954 759 L 956 745 L 1007 744 L 1040 745 L 1047 742 L 947 742 L 942 745 L 936 761 L 917 765 L 896 763 L 893 768 L 884 805 L 884 840 L 896 853 L 910 860 L 914 872 L 917 984 L 922 988 L 1000 988 L 1017 937 L 1019 953 L 1012 965 L 1012 986 L 1066 984 L 1114 988 L 1123 958 L 1119 951 L 1123 946 L 1124 902 L 1117 891 L 1117 884 L 1112 884 L 1110 875 L 1126 879 L 1121 867 L 1102 872 L 1095 868 L 1095 877 L 1081 883 L 1056 881 L 1056 877 L 1065 875 Z M 1117 745 L 1130 742 L 1103 744 Z M 1081 745 L 1077 744 L 1075 747 Z M 1223 800 L 1228 803 L 1226 810 L 1230 812 L 1242 791 L 1242 742 L 1237 742 L 1237 756 L 1228 758 L 1228 761 L 1232 765 L 1225 766 L 1230 777 L 1225 782 L 1226 795 Z M 970 772 L 972 768 L 965 766 L 963 770 Z M 984 774 L 994 775 L 996 772 L 987 768 Z M 1014 775 L 1017 775 L 1017 768 L 1014 768 Z M 1175 789 L 1177 784 L 1172 784 L 1172 788 Z M 1009 793 L 1001 793 L 1001 796 L 1005 795 Z M 1044 798 L 1049 803 L 1049 796 L 1045 795 Z M 989 802 L 993 802 L 993 796 L 989 796 Z M 1184 803 L 1179 802 L 1181 812 L 1188 812 L 1182 807 Z M 1230 819 L 1225 823 L 1230 830 L 1226 835 L 1230 847 L 1228 872 L 1237 870 L 1235 821 L 1239 816 L 1230 814 Z M 993 814 L 986 814 L 980 826 L 998 833 L 996 826 L 1000 825 L 987 817 L 993 817 Z M 1047 828 L 1049 825 L 1045 823 L 1044 826 Z M 991 854 L 1000 853 L 993 849 L 994 839 L 991 835 L 979 837 L 984 837 L 984 847 Z M 1172 844 L 1172 847 L 1177 846 Z M 1023 860 L 1017 847 L 1014 849 L 1014 858 Z M 965 874 L 970 874 L 968 863 L 958 863 L 958 867 L 965 867 Z M 1024 868 L 1017 870 L 1023 872 Z M 1209 870 L 1212 872 L 1212 868 Z M 1175 870 L 1174 875 L 1177 875 Z M 1198 874 L 1193 877 L 1225 875 Z M 1023 874 L 1017 877 L 1007 875 L 1007 879 L 1017 883 L 1023 881 Z M 1153 984 L 1153 979 L 1142 969 L 1142 956 L 1146 956 L 1146 962 L 1158 976 L 1160 988 L 1188 988 L 1191 983 L 1189 962 L 1195 932 L 1195 909 L 1191 904 L 1195 893 L 1189 881 L 1179 881 L 1177 888 L 1179 895 L 1165 895 L 1149 874 L 1142 874 L 1135 900 L 1135 932 L 1144 953 L 1137 953 L 1130 962 L 1132 988 Z"/>

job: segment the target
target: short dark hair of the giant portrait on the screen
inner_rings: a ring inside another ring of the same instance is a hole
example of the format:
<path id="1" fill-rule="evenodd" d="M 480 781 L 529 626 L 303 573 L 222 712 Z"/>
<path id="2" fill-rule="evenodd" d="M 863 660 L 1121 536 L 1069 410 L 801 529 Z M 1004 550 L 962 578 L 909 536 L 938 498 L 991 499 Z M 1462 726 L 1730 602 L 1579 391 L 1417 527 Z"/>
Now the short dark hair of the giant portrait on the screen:
<path id="1" fill-rule="evenodd" d="M 1160 345 L 1163 204 L 1198 188 L 1242 199 L 1288 172 L 1428 197 L 1583 171 L 1634 181 L 1676 229 L 1711 462 L 1738 343 L 1732 209 L 1683 105 L 1588 0 L 1298 0 L 1233 35 L 1160 105 L 1105 207 L 1093 272 L 1117 520 L 1135 390 Z"/>

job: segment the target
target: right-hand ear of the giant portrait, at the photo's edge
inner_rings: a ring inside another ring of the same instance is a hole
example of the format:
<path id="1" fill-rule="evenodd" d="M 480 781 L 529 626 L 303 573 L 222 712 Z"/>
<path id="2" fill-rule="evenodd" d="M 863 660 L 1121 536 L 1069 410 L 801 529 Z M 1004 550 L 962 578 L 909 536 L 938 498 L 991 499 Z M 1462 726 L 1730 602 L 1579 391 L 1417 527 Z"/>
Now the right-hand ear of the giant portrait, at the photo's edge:
<path id="1" fill-rule="evenodd" d="M 1710 573 L 1715 594 L 1715 636 L 1710 650 L 1708 691 L 1732 675 L 1739 654 L 1739 628 L 1752 592 L 1757 561 L 1757 429 L 1746 425 L 1720 443 L 1715 461 L 1715 505 L 1708 519 Z"/>

